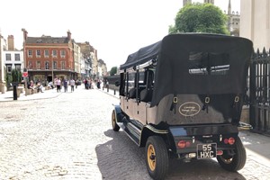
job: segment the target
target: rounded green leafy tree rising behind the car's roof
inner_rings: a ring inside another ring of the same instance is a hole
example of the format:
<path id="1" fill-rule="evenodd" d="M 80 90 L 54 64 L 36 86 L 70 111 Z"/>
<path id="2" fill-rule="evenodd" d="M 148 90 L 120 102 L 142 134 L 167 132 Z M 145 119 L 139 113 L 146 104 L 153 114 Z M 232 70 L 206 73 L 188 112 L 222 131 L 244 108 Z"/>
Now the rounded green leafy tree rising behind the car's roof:
<path id="1" fill-rule="evenodd" d="M 208 32 L 228 34 L 228 17 L 213 4 L 187 4 L 176 14 L 175 25 L 169 26 L 169 33 Z"/>

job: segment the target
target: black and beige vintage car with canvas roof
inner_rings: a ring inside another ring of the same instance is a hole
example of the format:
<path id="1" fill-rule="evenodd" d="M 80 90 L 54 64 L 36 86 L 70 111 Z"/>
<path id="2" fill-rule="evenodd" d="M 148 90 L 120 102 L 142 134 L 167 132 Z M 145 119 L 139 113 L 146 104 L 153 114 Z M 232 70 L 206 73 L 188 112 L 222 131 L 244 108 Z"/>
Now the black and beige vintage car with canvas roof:
<path id="1" fill-rule="evenodd" d="M 145 147 L 153 179 L 165 178 L 170 158 L 216 157 L 229 171 L 245 165 L 238 127 L 252 52 L 244 38 L 180 33 L 121 65 L 112 129 Z"/>

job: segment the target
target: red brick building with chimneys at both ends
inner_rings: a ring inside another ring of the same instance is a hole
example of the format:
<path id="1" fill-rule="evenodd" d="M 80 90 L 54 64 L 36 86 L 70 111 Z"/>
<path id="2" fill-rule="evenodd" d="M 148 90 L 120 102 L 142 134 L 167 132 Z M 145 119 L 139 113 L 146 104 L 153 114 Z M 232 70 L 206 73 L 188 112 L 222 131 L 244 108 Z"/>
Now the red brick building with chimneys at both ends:
<path id="1" fill-rule="evenodd" d="M 24 67 L 29 79 L 51 81 L 54 78 L 76 78 L 73 42 L 71 32 L 67 37 L 28 37 L 23 29 Z"/>

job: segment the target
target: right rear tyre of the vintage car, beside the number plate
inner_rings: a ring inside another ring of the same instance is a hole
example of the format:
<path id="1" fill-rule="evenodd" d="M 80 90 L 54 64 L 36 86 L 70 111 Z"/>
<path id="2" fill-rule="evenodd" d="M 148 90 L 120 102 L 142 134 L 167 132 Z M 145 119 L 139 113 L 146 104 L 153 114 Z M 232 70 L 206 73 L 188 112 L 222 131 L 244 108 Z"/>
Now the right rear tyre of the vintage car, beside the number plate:
<path id="1" fill-rule="evenodd" d="M 228 171 L 238 171 L 246 164 L 246 149 L 244 148 L 241 139 L 236 139 L 235 155 L 229 155 L 229 151 L 223 151 L 223 155 L 218 156 L 217 159 L 224 169 Z"/>

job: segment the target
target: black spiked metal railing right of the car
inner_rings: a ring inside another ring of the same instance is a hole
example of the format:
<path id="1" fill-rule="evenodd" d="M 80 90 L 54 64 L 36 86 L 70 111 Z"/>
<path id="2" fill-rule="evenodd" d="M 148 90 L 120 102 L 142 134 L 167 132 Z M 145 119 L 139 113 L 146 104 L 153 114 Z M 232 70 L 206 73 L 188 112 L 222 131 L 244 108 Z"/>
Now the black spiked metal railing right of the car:
<path id="1" fill-rule="evenodd" d="M 270 51 L 270 50 L 269 50 Z M 247 76 L 249 121 L 259 133 L 270 134 L 270 54 L 254 53 Z"/>

